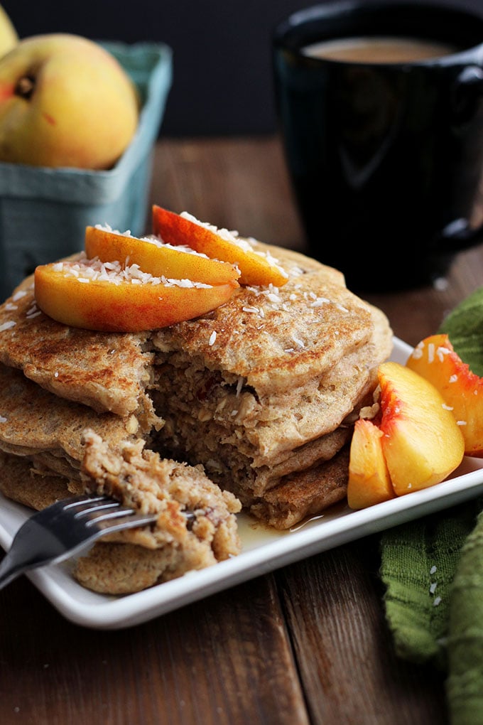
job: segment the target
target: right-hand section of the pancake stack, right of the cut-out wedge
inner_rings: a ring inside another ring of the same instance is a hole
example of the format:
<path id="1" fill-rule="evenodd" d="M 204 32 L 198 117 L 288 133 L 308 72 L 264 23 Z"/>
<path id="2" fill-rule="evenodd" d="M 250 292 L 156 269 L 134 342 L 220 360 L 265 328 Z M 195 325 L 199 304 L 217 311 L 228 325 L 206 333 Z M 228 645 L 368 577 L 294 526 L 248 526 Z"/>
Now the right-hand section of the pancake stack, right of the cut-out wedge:
<path id="1" fill-rule="evenodd" d="M 280 490 L 284 476 L 348 442 L 392 349 L 385 315 L 346 289 L 339 273 L 301 254 L 271 254 L 289 276 L 280 289 L 243 288 L 209 315 L 152 337 L 161 450 L 203 463 L 262 518 L 261 498 Z M 301 505 L 298 515 L 305 511 Z"/>

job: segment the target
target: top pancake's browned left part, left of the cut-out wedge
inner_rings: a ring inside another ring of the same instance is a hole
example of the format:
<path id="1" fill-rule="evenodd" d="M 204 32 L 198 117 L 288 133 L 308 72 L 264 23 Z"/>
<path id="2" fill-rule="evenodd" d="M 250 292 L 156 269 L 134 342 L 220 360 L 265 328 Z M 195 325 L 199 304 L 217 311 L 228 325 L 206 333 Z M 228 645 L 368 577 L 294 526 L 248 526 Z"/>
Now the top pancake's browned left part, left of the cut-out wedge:
<path id="1" fill-rule="evenodd" d="M 0 362 L 59 397 L 154 423 L 150 382 L 152 355 L 146 334 L 105 334 L 61 325 L 35 304 L 27 278 L 0 306 Z"/>

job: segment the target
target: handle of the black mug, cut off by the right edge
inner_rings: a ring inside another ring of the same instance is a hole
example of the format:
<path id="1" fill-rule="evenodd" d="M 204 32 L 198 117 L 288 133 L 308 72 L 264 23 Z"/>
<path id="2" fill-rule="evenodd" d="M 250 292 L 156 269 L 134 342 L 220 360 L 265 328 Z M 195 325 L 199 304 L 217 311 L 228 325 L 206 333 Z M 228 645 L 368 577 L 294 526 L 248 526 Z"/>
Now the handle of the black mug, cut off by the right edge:
<path id="1" fill-rule="evenodd" d="M 475 104 L 483 96 L 483 68 L 469 65 L 456 78 L 453 90 L 453 114 L 457 123 L 466 123 L 474 115 Z M 483 202 L 482 202 L 483 203 Z M 483 241 L 483 224 L 476 229 L 461 218 L 450 222 L 443 230 L 438 246 L 443 252 L 462 252 Z"/>

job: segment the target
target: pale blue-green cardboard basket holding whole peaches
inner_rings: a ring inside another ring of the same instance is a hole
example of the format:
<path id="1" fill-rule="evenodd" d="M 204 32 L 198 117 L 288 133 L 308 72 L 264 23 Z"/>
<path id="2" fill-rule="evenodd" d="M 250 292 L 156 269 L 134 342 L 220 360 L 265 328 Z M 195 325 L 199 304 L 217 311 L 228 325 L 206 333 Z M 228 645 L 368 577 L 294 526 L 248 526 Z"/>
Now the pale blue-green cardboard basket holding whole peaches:
<path id="1" fill-rule="evenodd" d="M 145 231 L 153 148 L 172 83 L 172 51 L 164 43 L 101 44 L 138 86 L 138 130 L 107 171 L 0 162 L 0 302 L 36 265 L 83 249 L 88 225 L 108 223 L 135 235 Z"/>

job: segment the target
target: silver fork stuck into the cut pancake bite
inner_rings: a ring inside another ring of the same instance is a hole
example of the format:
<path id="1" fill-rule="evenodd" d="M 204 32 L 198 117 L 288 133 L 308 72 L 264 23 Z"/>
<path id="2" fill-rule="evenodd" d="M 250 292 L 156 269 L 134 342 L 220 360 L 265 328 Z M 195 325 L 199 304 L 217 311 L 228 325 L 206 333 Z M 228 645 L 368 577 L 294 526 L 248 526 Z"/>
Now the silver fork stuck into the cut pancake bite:
<path id="1" fill-rule="evenodd" d="M 106 496 L 57 501 L 20 526 L 0 563 L 0 589 L 29 569 L 64 561 L 107 533 L 145 526 L 158 515 L 135 513 Z"/>

